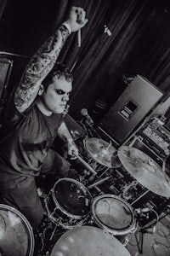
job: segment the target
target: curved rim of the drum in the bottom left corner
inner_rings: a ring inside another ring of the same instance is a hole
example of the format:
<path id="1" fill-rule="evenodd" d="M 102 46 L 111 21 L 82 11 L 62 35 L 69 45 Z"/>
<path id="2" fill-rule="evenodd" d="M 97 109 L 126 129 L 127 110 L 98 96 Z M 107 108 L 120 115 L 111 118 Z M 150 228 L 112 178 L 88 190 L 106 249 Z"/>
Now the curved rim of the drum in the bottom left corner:
<path id="1" fill-rule="evenodd" d="M 33 234 L 33 230 L 31 228 L 31 224 L 29 223 L 29 221 L 27 220 L 27 218 L 20 212 L 18 211 L 17 209 L 15 209 L 14 207 L 10 207 L 8 205 L 4 205 L 4 204 L 0 204 L 0 210 L 1 209 L 5 209 L 5 210 L 9 210 L 10 212 L 14 212 L 17 217 L 20 217 L 21 220 L 22 220 L 22 223 L 24 222 L 24 226 L 26 227 L 26 231 L 28 232 L 29 234 L 29 245 L 30 245 L 30 252 L 28 255 L 26 256 L 33 256 L 33 253 L 34 253 L 34 247 L 35 247 L 35 240 L 34 240 L 34 234 Z"/>

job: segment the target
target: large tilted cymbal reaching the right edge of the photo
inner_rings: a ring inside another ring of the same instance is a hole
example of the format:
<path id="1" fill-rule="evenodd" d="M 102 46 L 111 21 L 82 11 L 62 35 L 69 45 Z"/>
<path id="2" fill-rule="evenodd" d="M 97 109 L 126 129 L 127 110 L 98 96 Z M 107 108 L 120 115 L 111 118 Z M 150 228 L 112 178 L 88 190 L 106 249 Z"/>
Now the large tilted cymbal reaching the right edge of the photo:
<path id="1" fill-rule="evenodd" d="M 170 178 L 149 155 L 129 146 L 118 148 L 117 154 L 122 166 L 146 189 L 156 195 L 170 196 Z"/>

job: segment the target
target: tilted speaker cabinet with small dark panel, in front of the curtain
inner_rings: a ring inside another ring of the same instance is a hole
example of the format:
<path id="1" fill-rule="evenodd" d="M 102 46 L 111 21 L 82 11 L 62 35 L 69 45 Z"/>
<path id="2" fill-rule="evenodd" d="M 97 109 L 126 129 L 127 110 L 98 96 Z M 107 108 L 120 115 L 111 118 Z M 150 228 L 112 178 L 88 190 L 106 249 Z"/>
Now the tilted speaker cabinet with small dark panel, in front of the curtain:
<path id="1" fill-rule="evenodd" d="M 161 90 L 137 75 L 106 113 L 100 125 L 119 145 L 122 145 L 161 96 Z"/>

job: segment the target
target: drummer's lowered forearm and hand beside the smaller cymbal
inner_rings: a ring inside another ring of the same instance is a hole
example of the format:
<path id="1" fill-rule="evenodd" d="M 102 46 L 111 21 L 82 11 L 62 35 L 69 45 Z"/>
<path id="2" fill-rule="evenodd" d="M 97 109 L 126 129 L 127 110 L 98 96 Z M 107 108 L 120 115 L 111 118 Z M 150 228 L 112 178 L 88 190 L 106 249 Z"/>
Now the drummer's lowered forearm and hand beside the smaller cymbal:
<path id="1" fill-rule="evenodd" d="M 71 134 L 65 125 L 65 122 L 62 122 L 61 125 L 59 125 L 58 135 L 61 139 L 65 141 L 65 143 L 67 143 L 68 154 L 71 156 L 77 156 L 78 155 L 77 145 L 74 143 L 71 137 Z"/>

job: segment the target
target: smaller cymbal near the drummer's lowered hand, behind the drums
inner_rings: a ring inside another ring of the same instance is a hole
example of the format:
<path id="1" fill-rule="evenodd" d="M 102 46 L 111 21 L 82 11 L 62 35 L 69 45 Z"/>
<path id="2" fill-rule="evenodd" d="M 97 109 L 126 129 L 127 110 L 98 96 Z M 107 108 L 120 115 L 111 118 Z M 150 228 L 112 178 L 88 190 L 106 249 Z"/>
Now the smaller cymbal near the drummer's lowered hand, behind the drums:
<path id="1" fill-rule="evenodd" d="M 100 165 L 112 168 L 120 165 L 120 161 L 116 156 L 116 148 L 114 148 L 111 143 L 107 143 L 96 137 L 91 137 L 86 140 L 86 148 L 88 154 Z"/>

